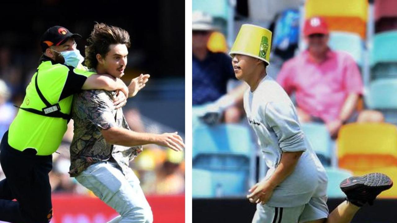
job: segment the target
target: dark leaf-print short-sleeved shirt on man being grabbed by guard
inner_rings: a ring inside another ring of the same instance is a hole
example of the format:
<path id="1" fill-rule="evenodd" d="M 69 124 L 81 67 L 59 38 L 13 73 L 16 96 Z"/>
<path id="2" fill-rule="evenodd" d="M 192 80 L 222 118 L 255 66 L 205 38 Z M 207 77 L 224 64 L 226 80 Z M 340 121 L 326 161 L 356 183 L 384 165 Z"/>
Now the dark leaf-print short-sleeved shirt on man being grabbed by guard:
<path id="1" fill-rule="evenodd" d="M 109 144 L 101 134 L 102 129 L 115 126 L 129 129 L 123 110 L 114 109 L 115 95 L 116 92 L 106 90 L 82 90 L 74 95 L 74 136 L 70 146 L 69 171 L 71 177 L 101 161 L 115 161 L 126 177 L 131 173 L 128 171 L 129 161 L 142 152 L 142 146 Z"/>

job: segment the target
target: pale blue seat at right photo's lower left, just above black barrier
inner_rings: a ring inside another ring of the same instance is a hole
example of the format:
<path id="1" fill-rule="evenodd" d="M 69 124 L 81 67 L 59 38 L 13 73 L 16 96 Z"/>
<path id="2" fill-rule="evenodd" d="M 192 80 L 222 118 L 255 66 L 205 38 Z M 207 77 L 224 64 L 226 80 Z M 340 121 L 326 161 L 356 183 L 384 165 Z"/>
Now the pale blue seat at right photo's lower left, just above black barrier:
<path id="1" fill-rule="evenodd" d="M 192 197 L 193 198 L 209 198 L 215 196 L 212 190 L 211 172 L 202 169 L 192 169 Z"/>

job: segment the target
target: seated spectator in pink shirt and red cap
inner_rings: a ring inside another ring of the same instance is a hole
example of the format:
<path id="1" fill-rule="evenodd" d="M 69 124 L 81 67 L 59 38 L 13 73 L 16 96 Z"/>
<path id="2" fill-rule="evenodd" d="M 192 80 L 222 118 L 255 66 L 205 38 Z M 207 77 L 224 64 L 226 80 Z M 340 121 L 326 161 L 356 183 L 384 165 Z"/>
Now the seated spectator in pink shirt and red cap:
<path id="1" fill-rule="evenodd" d="M 277 77 L 288 94 L 295 92 L 300 121 L 325 123 L 333 138 L 345 123 L 383 121 L 380 112 L 357 111 L 363 93 L 360 71 L 349 54 L 328 47 L 324 19 L 307 19 L 303 33 L 307 50 L 285 62 Z"/>

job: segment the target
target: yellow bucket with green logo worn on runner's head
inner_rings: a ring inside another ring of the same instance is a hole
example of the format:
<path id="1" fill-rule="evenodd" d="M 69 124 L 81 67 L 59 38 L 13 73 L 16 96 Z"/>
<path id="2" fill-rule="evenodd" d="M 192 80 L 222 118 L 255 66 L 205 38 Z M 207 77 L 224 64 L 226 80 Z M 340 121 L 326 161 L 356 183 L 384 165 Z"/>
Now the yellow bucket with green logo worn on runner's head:
<path id="1" fill-rule="evenodd" d="M 241 26 L 229 55 L 252 56 L 269 63 L 272 32 L 260 26 L 244 24 Z"/>

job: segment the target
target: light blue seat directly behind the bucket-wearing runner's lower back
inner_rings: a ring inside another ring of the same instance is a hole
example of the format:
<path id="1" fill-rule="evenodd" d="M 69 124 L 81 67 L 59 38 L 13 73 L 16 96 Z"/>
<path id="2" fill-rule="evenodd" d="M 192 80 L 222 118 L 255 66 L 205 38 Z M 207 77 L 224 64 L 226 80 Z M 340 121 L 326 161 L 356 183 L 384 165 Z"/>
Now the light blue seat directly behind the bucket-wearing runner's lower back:
<path id="1" fill-rule="evenodd" d="M 324 166 L 329 166 L 332 154 L 331 137 L 327 127 L 318 123 L 302 123 L 301 128 L 321 163 Z"/>

